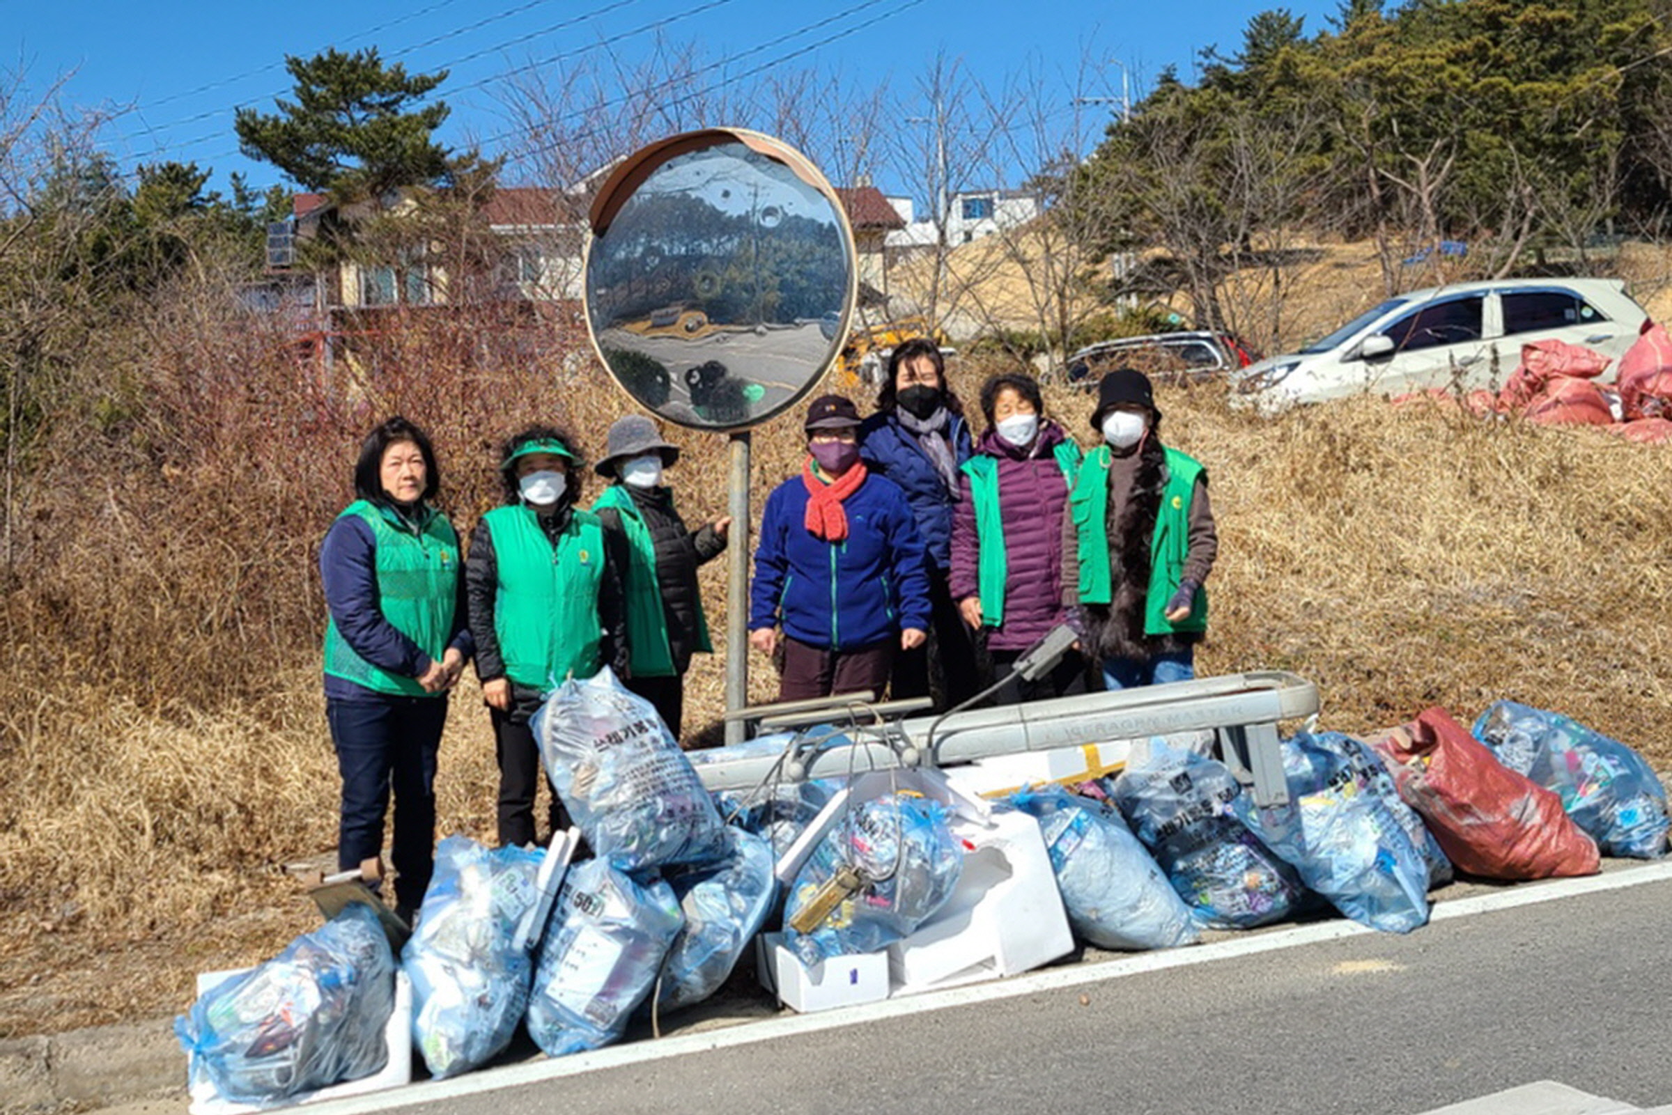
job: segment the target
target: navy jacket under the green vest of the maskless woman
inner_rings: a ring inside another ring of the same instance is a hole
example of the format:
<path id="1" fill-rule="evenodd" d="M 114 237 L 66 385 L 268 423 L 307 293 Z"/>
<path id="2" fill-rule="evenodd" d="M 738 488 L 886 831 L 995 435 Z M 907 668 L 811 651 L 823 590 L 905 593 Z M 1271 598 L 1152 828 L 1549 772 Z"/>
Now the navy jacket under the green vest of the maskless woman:
<path id="1" fill-rule="evenodd" d="M 319 580 L 331 619 L 354 654 L 378 669 L 406 677 L 418 677 L 430 669 L 430 655 L 383 619 L 378 608 L 376 540 L 366 520 L 348 515 L 331 523 L 319 545 Z M 470 659 L 477 644 L 465 625 L 466 619 L 465 577 L 460 575 L 453 637 L 446 645 Z M 383 699 L 383 694 L 329 674 L 324 677 L 324 695 L 338 700 Z"/>

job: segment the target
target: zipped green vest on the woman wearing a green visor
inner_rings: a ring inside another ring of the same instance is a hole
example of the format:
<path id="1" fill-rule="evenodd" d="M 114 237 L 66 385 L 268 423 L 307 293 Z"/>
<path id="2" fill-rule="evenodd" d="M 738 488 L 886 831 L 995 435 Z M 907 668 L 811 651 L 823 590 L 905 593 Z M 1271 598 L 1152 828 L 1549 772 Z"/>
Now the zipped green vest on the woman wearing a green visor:
<path id="1" fill-rule="evenodd" d="M 522 503 L 493 508 L 482 522 L 493 537 L 498 563 L 493 634 L 505 675 L 517 685 L 548 692 L 568 677 L 597 674 L 604 582 L 599 517 L 575 508 L 557 545 Z"/>

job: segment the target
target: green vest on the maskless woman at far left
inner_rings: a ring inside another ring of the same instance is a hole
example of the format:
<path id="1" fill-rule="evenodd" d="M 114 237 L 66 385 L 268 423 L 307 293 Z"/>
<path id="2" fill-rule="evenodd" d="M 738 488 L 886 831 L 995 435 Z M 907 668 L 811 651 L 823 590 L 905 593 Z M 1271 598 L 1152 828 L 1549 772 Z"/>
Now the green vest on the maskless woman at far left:
<path id="1" fill-rule="evenodd" d="M 446 654 L 458 602 L 458 535 L 446 515 L 425 508 L 421 527 L 413 527 L 393 508 L 354 500 L 338 518 L 354 515 L 371 527 L 378 610 L 390 627 L 418 644 L 435 660 Z M 425 692 L 416 677 L 391 674 L 359 657 L 336 620 L 324 625 L 324 672 L 380 694 L 440 697 Z"/>

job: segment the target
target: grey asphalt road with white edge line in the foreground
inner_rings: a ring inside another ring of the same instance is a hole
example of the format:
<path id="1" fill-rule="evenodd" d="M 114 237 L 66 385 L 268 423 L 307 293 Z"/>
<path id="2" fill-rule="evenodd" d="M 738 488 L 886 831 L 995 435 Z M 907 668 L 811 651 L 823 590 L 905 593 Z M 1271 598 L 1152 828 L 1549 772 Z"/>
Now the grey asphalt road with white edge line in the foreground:
<path id="1" fill-rule="evenodd" d="M 1637 874 L 1655 881 L 1485 913 L 1465 914 L 1471 903 L 1458 903 L 1460 916 L 1409 936 L 1329 939 L 1343 923 L 1326 923 L 1179 950 L 1165 961 L 1177 966 L 1165 970 L 1135 970 L 1144 961 L 1058 968 L 1008 981 L 1025 990 L 1008 998 L 943 1010 L 920 1008 L 958 993 L 918 1006 L 895 1000 L 876 1015 L 843 1011 L 851 1025 L 839 1026 L 831 1026 L 836 1016 L 766 1020 L 737 1030 L 779 1036 L 492 1092 L 420 1085 L 403 1093 L 406 1107 L 385 1107 L 393 1093 L 378 1107 L 415 1115 L 1416 1115 L 1533 1080 L 1654 1107 L 1672 1102 L 1672 873 Z M 1525 898 L 1528 888 L 1513 894 Z M 1244 946 L 1254 951 L 1224 955 Z M 966 991 L 965 1000 L 986 993 Z M 821 1028 L 793 1033 L 798 1023 Z M 465 1087 L 557 1065 L 488 1070 Z M 420 1103 L 426 1093 L 435 1102 Z M 324 1108 L 349 1110 L 316 1110 Z"/>

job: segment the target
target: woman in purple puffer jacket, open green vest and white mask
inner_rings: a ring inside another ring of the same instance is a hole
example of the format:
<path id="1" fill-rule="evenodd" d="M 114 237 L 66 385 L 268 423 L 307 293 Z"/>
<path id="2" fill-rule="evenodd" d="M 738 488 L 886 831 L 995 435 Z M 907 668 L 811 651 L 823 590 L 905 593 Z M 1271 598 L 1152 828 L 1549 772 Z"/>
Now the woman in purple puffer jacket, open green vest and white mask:
<path id="1" fill-rule="evenodd" d="M 980 632 L 998 677 L 1062 624 L 1062 520 L 1080 468 L 1080 446 L 1045 416 L 1033 376 L 1007 373 L 981 384 L 986 431 L 961 468 L 951 523 L 948 587 L 965 624 Z M 1015 704 L 1087 690 L 1078 650 L 1050 674 L 1013 680 L 995 700 Z"/>

